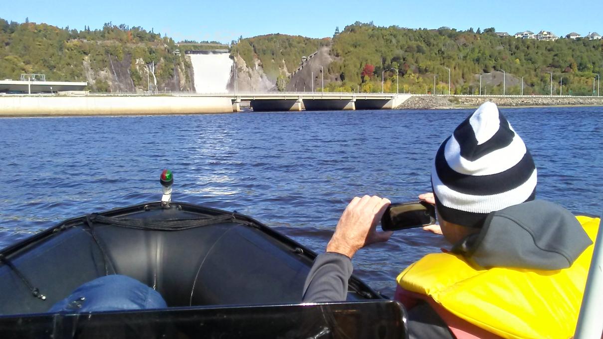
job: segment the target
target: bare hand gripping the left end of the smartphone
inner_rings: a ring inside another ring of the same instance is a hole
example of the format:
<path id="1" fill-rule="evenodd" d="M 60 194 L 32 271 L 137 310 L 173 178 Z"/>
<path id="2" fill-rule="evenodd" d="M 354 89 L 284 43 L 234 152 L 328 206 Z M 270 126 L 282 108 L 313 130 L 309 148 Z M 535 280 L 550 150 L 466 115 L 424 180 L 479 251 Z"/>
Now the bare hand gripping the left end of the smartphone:
<path id="1" fill-rule="evenodd" d="M 377 232 L 376 228 L 390 203 L 376 195 L 353 198 L 339 218 L 335 233 L 327 244 L 327 252 L 341 253 L 352 259 L 362 247 L 387 241 L 393 232 Z"/>

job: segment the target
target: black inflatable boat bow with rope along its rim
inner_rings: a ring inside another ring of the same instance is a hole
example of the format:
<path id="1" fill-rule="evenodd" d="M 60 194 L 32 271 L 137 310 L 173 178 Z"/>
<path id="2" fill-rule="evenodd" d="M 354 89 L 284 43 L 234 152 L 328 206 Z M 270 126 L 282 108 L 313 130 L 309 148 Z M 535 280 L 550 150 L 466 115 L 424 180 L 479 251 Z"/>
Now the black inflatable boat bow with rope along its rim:
<path id="1" fill-rule="evenodd" d="M 171 189 L 168 193 L 171 194 Z M 323 327 L 330 333 L 325 334 L 325 338 L 342 335 L 360 338 L 358 335 L 361 334 L 393 338 L 391 335 L 403 334 L 401 306 L 384 300 L 355 277 L 350 279 L 348 301 L 373 302 L 293 305 L 301 302 L 303 284 L 314 253 L 245 215 L 171 202 L 170 195 L 165 197 L 159 202 L 73 218 L 2 250 L 0 337 L 7 338 L 6 334 L 10 333 L 16 337 L 39 337 L 40 333 L 44 334 L 42 337 L 54 338 L 66 334 L 69 338 L 78 337 L 77 334 L 82 333 L 86 333 L 84 337 L 97 337 L 98 331 L 80 331 L 81 320 L 74 323 L 74 317 L 81 319 L 81 315 L 40 313 L 47 312 L 81 284 L 108 274 L 123 274 L 139 280 L 158 291 L 168 308 L 125 312 L 127 317 L 118 316 L 124 312 L 101 312 L 87 318 L 88 329 L 102 328 L 107 322 L 115 325 L 116 320 L 125 318 L 134 319 L 138 325 L 161 323 L 158 320 L 161 318 L 172 327 L 183 322 L 189 327 L 197 326 L 206 334 L 218 331 L 232 337 L 230 331 L 242 334 L 241 326 L 254 328 L 274 324 L 277 320 L 283 325 L 288 323 L 286 319 L 301 321 L 306 314 L 308 319 L 315 320 L 315 325 L 295 322 L 298 326 L 305 324 L 300 335 L 317 335 Z M 265 306 L 276 304 L 289 306 Z M 333 307 L 344 317 L 337 320 L 341 323 L 335 328 L 341 330 L 363 324 L 367 326 L 364 332 L 357 328 L 347 329 L 352 332 L 333 331 L 327 325 L 336 317 L 324 317 L 325 310 Z M 314 308 L 317 309 L 312 311 Z M 367 314 L 361 312 L 364 308 L 367 308 Z M 368 309 L 373 311 L 369 313 Z M 385 312 L 387 314 L 375 313 L 385 309 L 389 310 Z M 225 325 L 226 318 L 209 316 L 215 312 L 231 320 L 253 321 Z M 355 320 L 346 319 L 345 314 L 355 314 Z M 381 315 L 376 320 L 377 314 Z M 196 325 L 191 325 L 192 319 L 197 320 L 192 322 Z M 13 332 L 13 326 L 18 324 L 25 327 Z M 127 327 L 131 329 L 131 326 Z M 30 330 L 33 332 L 28 332 Z M 270 326 L 264 326 L 262 331 L 268 332 L 251 335 L 254 332 L 244 331 L 250 335 L 240 337 L 265 337 L 267 334 L 279 337 L 288 333 L 271 331 Z M 152 333 L 160 337 L 163 332 Z M 112 337 L 130 335 L 112 333 Z"/>

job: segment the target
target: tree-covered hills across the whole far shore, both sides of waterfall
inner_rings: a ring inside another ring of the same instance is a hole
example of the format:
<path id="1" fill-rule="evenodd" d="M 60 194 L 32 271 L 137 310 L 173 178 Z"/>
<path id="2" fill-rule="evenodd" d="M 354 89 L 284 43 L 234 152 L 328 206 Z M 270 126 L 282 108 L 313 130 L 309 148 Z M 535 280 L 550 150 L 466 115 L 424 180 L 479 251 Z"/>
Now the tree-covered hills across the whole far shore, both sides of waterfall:
<path id="1" fill-rule="evenodd" d="M 230 49 L 247 64 L 246 72 L 259 72 L 257 77 L 249 75 L 252 82 L 265 73 L 272 83 L 286 83 L 302 56 L 330 45 L 335 61 L 324 65 L 325 90 L 330 91 L 380 92 L 384 74 L 385 92 L 396 92 L 398 75 L 400 92 L 431 93 L 435 77 L 435 92 L 447 93 L 449 68 L 452 93 L 478 93 L 480 75 L 482 93 L 502 93 L 505 71 L 507 94 L 520 93 L 522 77 L 525 94 L 548 94 L 552 72 L 555 93 L 562 80 L 563 94 L 592 95 L 593 78 L 603 72 L 603 40 L 548 42 L 498 37 L 493 32 L 493 28 L 411 30 L 356 22 L 332 40 L 269 34 L 239 39 Z M 3 19 L 0 46 L 2 79 L 43 73 L 48 80 L 88 81 L 95 92 L 191 90 L 192 67 L 183 51 L 228 47 L 194 41 L 177 45 L 152 30 L 110 22 L 102 29 L 80 31 Z M 175 54 L 176 49 L 182 53 Z"/>

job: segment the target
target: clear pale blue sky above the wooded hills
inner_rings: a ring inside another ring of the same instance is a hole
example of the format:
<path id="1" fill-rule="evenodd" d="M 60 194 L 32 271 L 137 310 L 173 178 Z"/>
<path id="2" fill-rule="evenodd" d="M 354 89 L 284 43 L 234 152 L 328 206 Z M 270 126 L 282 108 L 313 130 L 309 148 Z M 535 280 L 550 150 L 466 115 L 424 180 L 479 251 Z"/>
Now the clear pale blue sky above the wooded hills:
<path id="1" fill-rule="evenodd" d="M 105 22 L 142 26 L 175 40 L 230 42 L 239 36 L 269 33 L 331 36 L 353 22 L 408 28 L 448 26 L 458 30 L 494 27 L 517 31 L 550 30 L 603 34 L 603 0 L 591 1 L 136 1 L 0 0 L 8 21 L 46 22 L 59 27 L 101 28 Z"/>

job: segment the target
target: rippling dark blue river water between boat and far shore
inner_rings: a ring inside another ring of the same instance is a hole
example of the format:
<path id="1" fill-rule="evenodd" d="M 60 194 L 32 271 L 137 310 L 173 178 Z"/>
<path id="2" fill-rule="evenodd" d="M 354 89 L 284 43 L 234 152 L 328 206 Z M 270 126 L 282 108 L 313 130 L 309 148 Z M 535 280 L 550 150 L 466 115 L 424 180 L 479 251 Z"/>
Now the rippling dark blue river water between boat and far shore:
<path id="1" fill-rule="evenodd" d="M 355 195 L 414 200 L 440 142 L 472 110 L 0 119 L 0 247 L 61 220 L 159 200 L 236 210 L 324 250 Z M 603 107 L 504 109 L 538 167 L 538 197 L 600 215 Z M 361 250 L 355 273 L 393 294 L 446 246 L 421 230 Z"/>

